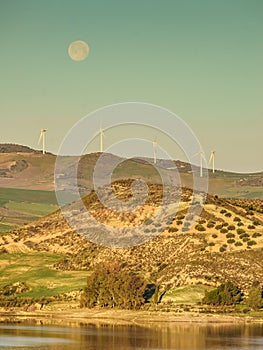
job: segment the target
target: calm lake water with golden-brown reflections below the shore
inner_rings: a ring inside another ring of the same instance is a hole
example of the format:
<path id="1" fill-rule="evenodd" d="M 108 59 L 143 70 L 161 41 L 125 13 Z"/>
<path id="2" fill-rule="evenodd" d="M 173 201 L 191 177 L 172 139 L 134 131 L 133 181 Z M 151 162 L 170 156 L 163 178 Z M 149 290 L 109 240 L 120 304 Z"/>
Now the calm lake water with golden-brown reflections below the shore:
<path id="1" fill-rule="evenodd" d="M 263 349 L 263 325 L 85 325 L 79 328 L 0 324 L 0 349 Z"/>

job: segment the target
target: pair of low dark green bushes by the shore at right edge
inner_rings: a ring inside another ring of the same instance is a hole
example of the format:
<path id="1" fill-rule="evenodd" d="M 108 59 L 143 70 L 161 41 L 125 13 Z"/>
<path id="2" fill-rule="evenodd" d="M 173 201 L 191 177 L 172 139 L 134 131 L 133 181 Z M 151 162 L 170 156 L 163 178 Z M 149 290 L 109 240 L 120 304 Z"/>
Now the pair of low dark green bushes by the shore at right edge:
<path id="1" fill-rule="evenodd" d="M 234 305 L 243 301 L 242 291 L 232 282 L 221 284 L 216 289 L 205 293 L 204 304 L 210 305 Z M 263 307 L 263 289 L 258 281 L 254 282 L 246 298 L 246 305 L 254 310 Z"/>

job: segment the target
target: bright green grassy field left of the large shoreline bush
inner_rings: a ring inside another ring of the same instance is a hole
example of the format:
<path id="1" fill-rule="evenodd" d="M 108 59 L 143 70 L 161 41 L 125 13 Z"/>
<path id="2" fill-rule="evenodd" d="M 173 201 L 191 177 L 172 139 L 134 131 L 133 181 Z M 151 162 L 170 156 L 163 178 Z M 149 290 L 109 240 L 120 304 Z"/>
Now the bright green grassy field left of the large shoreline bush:
<path id="1" fill-rule="evenodd" d="M 79 290 L 86 285 L 87 271 L 58 271 L 53 264 L 62 255 L 49 253 L 13 253 L 0 255 L 0 287 L 26 282 L 29 291 L 21 297 L 51 297 Z"/>

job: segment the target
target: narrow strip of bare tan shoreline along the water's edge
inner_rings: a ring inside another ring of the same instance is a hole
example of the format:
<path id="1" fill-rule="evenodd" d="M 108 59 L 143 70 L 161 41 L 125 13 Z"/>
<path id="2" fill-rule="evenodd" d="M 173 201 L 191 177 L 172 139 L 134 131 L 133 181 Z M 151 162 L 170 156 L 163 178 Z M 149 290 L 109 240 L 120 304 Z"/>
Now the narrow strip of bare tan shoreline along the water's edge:
<path id="1" fill-rule="evenodd" d="M 263 317 L 247 315 L 194 314 L 180 315 L 166 312 L 131 311 L 112 309 L 69 309 L 69 310 L 3 310 L 0 309 L 1 323 L 30 322 L 36 324 L 70 324 L 75 326 L 96 325 L 138 325 L 153 324 L 248 324 L 263 323 Z"/>

